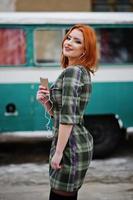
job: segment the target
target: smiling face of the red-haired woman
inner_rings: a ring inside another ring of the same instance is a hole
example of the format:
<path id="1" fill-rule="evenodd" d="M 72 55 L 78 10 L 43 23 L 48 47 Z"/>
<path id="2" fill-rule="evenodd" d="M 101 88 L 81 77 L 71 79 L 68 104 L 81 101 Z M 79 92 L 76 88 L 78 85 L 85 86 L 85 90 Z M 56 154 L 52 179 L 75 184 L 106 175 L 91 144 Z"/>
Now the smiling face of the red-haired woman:
<path id="1" fill-rule="evenodd" d="M 83 33 L 73 29 L 63 43 L 63 55 L 68 58 L 69 65 L 76 62 L 84 52 Z"/>

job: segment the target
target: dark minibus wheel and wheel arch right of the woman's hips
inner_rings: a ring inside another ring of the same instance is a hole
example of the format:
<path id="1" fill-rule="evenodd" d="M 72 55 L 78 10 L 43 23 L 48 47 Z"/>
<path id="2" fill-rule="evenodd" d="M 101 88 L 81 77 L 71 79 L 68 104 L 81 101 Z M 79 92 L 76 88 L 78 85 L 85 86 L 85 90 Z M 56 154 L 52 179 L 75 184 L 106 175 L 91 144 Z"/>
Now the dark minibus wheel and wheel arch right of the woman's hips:
<path id="1" fill-rule="evenodd" d="M 93 158 L 105 158 L 111 155 L 122 138 L 122 129 L 115 115 L 85 115 L 84 122 L 93 136 Z"/>

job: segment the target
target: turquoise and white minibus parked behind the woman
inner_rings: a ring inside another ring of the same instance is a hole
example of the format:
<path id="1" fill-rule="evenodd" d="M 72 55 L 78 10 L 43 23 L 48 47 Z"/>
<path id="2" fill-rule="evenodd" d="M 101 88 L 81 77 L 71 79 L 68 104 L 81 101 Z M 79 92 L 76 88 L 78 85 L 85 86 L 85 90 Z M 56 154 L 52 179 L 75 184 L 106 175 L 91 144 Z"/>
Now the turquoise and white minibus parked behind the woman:
<path id="1" fill-rule="evenodd" d="M 77 23 L 92 26 L 98 71 L 84 122 L 94 155 L 109 155 L 133 127 L 133 13 L 0 13 L 0 135 L 52 137 L 52 120 L 36 101 L 40 77 L 61 72 L 61 41 Z"/>

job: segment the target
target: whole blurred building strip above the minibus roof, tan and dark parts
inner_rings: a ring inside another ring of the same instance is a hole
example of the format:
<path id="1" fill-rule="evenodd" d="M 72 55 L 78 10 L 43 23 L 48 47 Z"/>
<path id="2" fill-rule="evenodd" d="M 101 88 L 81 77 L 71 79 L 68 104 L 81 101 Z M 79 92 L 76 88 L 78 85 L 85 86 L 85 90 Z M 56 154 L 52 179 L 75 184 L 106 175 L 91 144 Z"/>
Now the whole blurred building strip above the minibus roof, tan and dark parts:
<path id="1" fill-rule="evenodd" d="M 2 11 L 133 12 L 133 0 L 0 0 Z"/>

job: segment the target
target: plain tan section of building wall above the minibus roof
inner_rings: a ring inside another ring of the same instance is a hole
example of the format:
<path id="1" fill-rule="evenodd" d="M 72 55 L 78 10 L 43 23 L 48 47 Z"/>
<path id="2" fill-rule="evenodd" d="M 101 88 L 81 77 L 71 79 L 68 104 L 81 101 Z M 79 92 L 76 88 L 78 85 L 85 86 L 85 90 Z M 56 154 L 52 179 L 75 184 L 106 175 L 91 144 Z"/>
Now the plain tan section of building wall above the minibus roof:
<path id="1" fill-rule="evenodd" d="M 89 11 L 91 0 L 16 0 L 17 11 Z"/>

